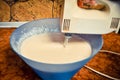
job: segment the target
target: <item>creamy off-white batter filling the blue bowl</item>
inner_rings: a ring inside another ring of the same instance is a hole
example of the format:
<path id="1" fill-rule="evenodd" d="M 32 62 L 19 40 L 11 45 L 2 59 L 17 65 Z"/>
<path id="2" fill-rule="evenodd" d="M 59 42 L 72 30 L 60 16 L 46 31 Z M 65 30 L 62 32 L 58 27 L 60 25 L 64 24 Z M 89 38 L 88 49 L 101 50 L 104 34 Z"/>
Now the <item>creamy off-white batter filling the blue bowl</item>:
<path id="1" fill-rule="evenodd" d="M 80 37 L 74 35 L 66 47 L 63 41 L 61 33 L 34 35 L 23 41 L 21 53 L 29 59 L 53 64 L 72 63 L 91 55 L 90 44 Z"/>

